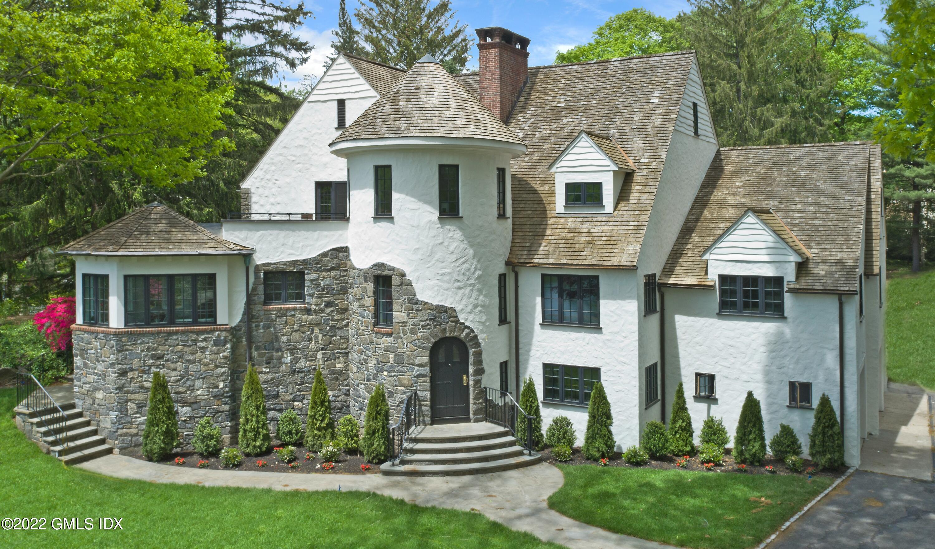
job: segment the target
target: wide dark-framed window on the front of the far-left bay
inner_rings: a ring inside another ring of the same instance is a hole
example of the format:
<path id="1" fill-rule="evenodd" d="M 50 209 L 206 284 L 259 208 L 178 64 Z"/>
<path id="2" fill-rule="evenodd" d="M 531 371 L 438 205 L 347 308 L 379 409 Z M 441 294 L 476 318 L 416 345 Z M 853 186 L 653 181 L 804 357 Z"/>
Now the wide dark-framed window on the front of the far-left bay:
<path id="1" fill-rule="evenodd" d="M 216 324 L 216 287 L 213 274 L 125 276 L 125 324 Z"/>

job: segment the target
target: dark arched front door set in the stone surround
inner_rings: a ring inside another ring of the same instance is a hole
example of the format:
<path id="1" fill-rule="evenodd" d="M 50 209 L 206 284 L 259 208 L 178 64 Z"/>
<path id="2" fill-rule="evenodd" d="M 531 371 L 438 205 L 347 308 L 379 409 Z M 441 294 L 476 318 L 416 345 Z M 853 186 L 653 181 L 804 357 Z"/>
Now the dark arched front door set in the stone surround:
<path id="1" fill-rule="evenodd" d="M 432 422 L 470 420 L 468 346 L 457 338 L 444 338 L 429 354 L 432 379 Z"/>

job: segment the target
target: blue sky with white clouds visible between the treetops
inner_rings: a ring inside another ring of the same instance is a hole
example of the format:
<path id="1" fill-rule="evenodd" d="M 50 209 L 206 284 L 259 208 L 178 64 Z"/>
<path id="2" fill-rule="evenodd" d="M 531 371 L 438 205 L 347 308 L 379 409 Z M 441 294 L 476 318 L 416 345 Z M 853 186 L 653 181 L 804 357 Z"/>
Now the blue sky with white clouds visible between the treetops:
<path id="1" fill-rule="evenodd" d="M 348 10 L 358 6 L 358 0 L 347 0 Z M 657 15 L 674 17 L 688 9 L 685 0 L 656 0 L 638 2 L 632 0 L 453 0 L 456 18 L 468 24 L 468 30 L 487 26 L 502 26 L 523 36 L 529 43 L 529 65 L 548 65 L 554 61 L 555 51 L 565 51 L 591 39 L 591 34 L 611 15 L 644 7 Z M 338 0 L 307 0 L 306 7 L 314 14 L 299 30 L 310 43 L 315 45 L 309 63 L 295 73 L 281 75 L 288 85 L 302 79 L 304 75 L 321 76 L 324 60 L 331 51 L 331 31 L 338 25 Z M 882 0 L 857 9 L 857 15 L 867 22 L 864 29 L 871 36 L 880 36 L 884 26 Z M 473 36 L 473 32 L 471 32 Z M 477 50 L 471 51 L 469 68 L 476 68 Z"/>

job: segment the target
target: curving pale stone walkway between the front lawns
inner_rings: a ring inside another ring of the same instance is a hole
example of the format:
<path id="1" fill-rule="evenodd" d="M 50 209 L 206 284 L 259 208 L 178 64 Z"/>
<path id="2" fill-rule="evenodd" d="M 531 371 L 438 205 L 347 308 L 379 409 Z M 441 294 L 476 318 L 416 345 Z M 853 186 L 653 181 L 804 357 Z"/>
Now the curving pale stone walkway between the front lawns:
<path id="1" fill-rule="evenodd" d="M 547 498 L 564 483 L 561 471 L 540 463 L 519 470 L 458 477 L 386 477 L 297 474 L 240 470 L 198 470 L 106 455 L 80 469 L 153 483 L 239 486 L 274 490 L 363 490 L 422 506 L 480 512 L 514 530 L 571 549 L 660 549 L 658 542 L 621 536 L 571 520 L 549 509 Z"/>

